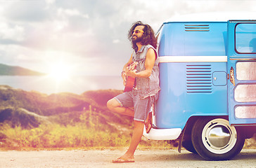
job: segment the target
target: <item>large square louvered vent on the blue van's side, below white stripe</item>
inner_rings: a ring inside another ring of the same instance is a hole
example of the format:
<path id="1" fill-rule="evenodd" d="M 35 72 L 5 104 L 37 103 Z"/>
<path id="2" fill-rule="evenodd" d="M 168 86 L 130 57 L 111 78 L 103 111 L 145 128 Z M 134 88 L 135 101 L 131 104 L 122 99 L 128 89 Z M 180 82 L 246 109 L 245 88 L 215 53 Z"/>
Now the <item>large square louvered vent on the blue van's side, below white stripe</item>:
<path id="1" fill-rule="evenodd" d="M 186 65 L 186 92 L 212 92 L 211 65 Z"/>

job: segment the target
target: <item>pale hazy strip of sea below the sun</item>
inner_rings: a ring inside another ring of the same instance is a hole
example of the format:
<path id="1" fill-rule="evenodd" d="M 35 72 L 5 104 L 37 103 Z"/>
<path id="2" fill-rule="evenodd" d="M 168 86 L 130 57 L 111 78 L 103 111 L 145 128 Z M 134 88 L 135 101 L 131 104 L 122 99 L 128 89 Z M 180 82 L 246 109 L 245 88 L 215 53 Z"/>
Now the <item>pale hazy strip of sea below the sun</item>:
<path id="1" fill-rule="evenodd" d="M 56 79 L 50 76 L 0 76 L 0 85 L 44 94 L 71 92 L 82 94 L 89 90 L 123 90 L 120 76 L 71 76 Z"/>

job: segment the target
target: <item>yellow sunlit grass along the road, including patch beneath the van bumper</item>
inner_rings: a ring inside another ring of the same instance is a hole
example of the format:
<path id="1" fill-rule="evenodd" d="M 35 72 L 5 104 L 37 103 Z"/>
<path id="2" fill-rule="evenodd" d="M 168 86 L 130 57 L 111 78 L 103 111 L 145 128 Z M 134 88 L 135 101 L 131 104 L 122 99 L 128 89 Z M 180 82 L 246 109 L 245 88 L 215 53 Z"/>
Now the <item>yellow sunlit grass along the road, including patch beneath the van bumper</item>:
<path id="1" fill-rule="evenodd" d="M 8 123 L 0 126 L 0 148 L 11 150 L 34 149 L 69 149 L 69 148 L 120 148 L 129 146 L 132 130 L 120 132 L 101 123 L 95 111 L 89 108 L 79 116 L 79 122 L 60 124 L 56 122 L 41 123 L 39 127 L 13 127 Z M 66 118 L 66 117 L 65 117 Z M 122 125 L 124 127 L 124 125 Z M 2 136 L 1 136 L 2 135 Z M 148 141 L 143 139 L 139 148 L 166 148 L 165 141 Z"/>

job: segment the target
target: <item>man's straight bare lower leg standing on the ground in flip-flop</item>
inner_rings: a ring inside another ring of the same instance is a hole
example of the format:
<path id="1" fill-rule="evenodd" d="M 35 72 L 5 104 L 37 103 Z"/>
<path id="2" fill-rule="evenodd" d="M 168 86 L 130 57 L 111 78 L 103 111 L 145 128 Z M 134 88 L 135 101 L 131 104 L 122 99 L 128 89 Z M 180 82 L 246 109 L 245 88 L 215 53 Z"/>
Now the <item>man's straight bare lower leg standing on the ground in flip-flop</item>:
<path id="1" fill-rule="evenodd" d="M 143 135 L 143 127 L 143 122 L 134 120 L 134 132 L 132 134 L 131 144 L 128 148 L 128 151 L 121 158 L 113 160 L 113 162 L 122 162 L 124 160 L 134 161 L 134 152 L 139 145 L 139 141 L 141 141 L 141 137 Z"/>

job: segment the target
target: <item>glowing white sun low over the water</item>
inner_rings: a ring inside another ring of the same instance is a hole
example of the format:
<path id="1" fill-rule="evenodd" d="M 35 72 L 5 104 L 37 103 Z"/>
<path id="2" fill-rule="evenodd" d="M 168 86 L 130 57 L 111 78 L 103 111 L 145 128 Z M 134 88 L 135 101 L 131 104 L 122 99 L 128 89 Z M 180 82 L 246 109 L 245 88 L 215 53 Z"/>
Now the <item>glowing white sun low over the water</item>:
<path id="1" fill-rule="evenodd" d="M 62 62 L 59 62 L 51 66 L 49 76 L 56 80 L 66 80 L 70 77 L 70 73 L 70 66 L 68 66 L 68 64 L 63 64 Z"/>

